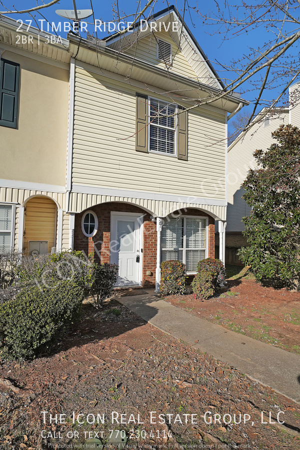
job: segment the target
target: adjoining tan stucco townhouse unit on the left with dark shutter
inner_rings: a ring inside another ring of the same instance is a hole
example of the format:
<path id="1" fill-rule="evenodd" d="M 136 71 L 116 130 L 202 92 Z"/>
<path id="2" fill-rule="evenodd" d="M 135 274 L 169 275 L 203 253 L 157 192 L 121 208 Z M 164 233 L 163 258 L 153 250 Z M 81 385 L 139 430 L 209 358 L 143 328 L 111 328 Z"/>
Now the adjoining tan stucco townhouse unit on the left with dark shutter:
<path id="1" fill-rule="evenodd" d="M 0 251 L 68 248 L 68 41 L 0 18 Z M 26 31 L 27 30 L 27 31 Z"/>

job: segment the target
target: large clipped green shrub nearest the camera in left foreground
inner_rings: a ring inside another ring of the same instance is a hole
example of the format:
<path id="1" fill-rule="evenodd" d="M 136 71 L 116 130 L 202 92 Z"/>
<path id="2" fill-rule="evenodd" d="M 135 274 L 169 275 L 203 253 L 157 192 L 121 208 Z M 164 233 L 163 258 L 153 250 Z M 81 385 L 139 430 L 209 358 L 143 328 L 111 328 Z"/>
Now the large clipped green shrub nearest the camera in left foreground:
<path id="1" fill-rule="evenodd" d="M 0 305 L 1 354 L 17 359 L 36 356 L 74 322 L 82 300 L 82 289 L 70 281 L 53 288 L 24 286 Z"/>

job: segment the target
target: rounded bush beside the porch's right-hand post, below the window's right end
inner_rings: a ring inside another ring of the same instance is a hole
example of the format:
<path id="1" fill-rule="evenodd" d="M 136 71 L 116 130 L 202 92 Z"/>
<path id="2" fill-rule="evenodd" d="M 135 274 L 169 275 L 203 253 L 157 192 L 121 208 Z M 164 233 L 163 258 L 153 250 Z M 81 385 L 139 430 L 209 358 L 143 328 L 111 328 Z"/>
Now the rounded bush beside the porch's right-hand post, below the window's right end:
<path id="1" fill-rule="evenodd" d="M 206 258 L 198 262 L 197 270 L 191 282 L 193 293 L 196 298 L 207 299 L 225 278 L 224 264 L 220 259 Z"/>

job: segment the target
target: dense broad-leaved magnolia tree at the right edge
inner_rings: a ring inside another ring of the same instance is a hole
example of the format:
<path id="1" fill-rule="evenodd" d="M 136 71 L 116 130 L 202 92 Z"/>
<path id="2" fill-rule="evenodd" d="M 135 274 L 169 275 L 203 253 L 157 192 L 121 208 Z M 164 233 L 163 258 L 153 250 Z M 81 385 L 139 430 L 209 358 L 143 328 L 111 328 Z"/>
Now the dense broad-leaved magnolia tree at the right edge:
<path id="1" fill-rule="evenodd" d="M 256 150 L 257 169 L 242 187 L 252 208 L 243 217 L 248 246 L 239 256 L 251 265 L 257 280 L 270 279 L 298 288 L 300 276 L 300 130 L 280 125 L 276 140 L 263 152 Z"/>

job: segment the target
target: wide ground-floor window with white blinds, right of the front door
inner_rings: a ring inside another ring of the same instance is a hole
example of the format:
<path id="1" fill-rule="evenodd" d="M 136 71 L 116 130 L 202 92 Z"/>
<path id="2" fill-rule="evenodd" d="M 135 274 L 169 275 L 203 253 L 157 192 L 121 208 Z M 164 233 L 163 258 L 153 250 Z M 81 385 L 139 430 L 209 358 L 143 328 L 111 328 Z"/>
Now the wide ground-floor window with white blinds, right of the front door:
<path id="1" fill-rule="evenodd" d="M 167 217 L 161 229 L 161 260 L 184 262 L 187 272 L 195 272 L 206 255 L 206 218 Z"/>

